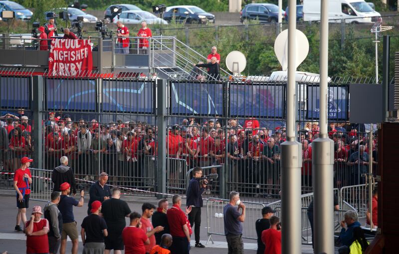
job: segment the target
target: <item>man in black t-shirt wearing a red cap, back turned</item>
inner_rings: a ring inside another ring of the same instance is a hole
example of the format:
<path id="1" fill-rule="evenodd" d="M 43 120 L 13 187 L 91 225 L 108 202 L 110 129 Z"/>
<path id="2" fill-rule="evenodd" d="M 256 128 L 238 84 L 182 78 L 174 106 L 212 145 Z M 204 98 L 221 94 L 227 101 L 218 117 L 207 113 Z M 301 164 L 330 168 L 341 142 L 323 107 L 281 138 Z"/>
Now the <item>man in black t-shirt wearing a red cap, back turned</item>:
<path id="1" fill-rule="evenodd" d="M 101 202 L 91 203 L 91 214 L 83 219 L 80 235 L 83 242 L 83 253 L 104 253 L 104 237 L 108 236 L 107 224 L 99 215 Z"/>

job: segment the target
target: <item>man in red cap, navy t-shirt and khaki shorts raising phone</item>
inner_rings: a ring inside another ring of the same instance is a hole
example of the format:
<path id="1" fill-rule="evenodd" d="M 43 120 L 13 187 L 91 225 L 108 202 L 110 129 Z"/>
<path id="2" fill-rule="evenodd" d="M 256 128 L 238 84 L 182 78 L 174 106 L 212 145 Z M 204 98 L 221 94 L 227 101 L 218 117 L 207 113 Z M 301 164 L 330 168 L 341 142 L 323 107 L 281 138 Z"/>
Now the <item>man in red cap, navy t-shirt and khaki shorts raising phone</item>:
<path id="1" fill-rule="evenodd" d="M 69 238 L 72 241 L 72 254 L 78 253 L 78 245 L 79 245 L 79 235 L 78 229 L 76 227 L 75 217 L 73 216 L 73 207 L 82 207 L 83 206 L 83 197 L 84 190 L 80 191 L 80 199 L 77 201 L 76 199 L 69 197 L 69 193 L 71 192 L 71 185 L 67 182 L 62 183 L 60 185 L 61 196 L 60 201 L 58 203 L 58 210 L 62 214 L 62 234 L 61 234 L 61 250 L 60 254 L 65 254 L 66 249 L 66 239 Z"/>

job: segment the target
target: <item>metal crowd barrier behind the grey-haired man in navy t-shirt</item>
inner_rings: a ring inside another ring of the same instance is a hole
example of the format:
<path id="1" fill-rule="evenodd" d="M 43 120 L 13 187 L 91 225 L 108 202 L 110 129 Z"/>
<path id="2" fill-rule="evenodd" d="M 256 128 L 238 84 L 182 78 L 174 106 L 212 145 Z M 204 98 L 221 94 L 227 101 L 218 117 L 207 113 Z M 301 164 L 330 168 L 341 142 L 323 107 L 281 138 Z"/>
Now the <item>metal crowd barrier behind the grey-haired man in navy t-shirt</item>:
<path id="1" fill-rule="evenodd" d="M 262 217 L 262 208 L 264 207 L 261 203 L 245 202 L 245 222 L 242 223 L 242 238 L 256 240 L 256 229 L 255 222 L 257 219 Z M 227 199 L 219 198 L 208 198 L 206 201 L 206 217 L 207 217 L 207 229 L 208 240 L 212 242 L 212 235 L 224 236 L 224 222 L 223 222 L 223 207 L 229 203 Z"/>

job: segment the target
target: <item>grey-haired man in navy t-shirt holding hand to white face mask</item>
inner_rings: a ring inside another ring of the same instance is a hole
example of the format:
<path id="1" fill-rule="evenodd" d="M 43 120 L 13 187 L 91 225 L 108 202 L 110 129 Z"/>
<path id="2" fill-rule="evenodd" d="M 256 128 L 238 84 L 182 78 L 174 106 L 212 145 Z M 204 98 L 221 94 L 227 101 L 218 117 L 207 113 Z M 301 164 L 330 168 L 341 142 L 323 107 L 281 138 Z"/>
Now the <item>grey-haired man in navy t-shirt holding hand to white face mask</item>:
<path id="1" fill-rule="evenodd" d="M 230 202 L 223 207 L 224 234 L 228 254 L 243 254 L 242 223 L 245 220 L 245 205 L 241 203 L 240 194 L 235 191 L 230 192 L 229 200 Z M 238 208 L 235 205 L 238 205 Z"/>

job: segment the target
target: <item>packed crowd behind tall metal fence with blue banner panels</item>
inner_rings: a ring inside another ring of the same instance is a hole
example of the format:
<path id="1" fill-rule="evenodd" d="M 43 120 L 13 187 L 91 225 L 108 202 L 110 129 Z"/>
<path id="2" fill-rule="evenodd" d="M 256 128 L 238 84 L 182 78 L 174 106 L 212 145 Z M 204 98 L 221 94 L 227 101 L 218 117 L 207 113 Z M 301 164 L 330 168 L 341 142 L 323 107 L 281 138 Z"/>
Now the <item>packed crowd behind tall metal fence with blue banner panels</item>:
<path id="1" fill-rule="evenodd" d="M 202 166 L 205 174 L 219 176 L 209 186 L 211 196 L 238 190 L 253 202 L 280 197 L 279 146 L 286 139 L 283 82 L 170 81 L 163 116 L 166 138 L 160 140 L 156 112 L 162 105 L 157 105 L 160 88 L 153 80 L 44 78 L 32 86 L 29 75 L 0 78 L 5 81 L 1 98 L 6 99 L 1 100 L 2 172 L 17 169 L 22 156 L 33 156 L 34 163 L 42 162 L 47 170 L 67 156 L 79 179 L 92 181 L 107 172 L 111 184 L 156 191 L 158 157 L 165 156 L 168 193 L 184 193 L 189 169 Z M 31 98 L 40 86 L 43 103 L 37 112 Z M 303 193 L 313 190 L 311 147 L 319 132 L 312 106 L 315 87 L 308 84 L 306 96 L 298 101 L 306 102 L 297 122 L 297 137 L 303 143 Z M 373 147 L 368 147 L 370 132 L 348 122 L 347 84 L 330 89 L 332 104 L 341 112 L 329 118 L 329 137 L 335 143 L 334 185 L 363 184 L 370 153 L 376 174 L 377 138 L 373 136 Z M 42 123 L 33 121 L 34 114 Z M 158 154 L 159 145 L 166 148 L 165 154 Z M 1 177 L 2 182 L 10 179 Z"/>

